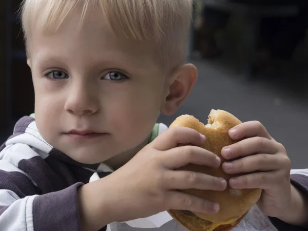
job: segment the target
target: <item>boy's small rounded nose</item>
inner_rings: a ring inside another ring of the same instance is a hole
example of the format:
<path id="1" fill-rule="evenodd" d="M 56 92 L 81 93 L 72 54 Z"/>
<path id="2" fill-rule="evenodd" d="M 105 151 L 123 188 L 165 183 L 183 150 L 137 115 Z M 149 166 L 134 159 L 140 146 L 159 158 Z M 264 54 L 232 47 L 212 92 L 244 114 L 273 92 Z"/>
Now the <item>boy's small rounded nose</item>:
<path id="1" fill-rule="evenodd" d="M 90 115 L 99 110 L 98 95 L 94 87 L 86 83 L 75 83 L 69 87 L 64 109 L 75 115 Z"/>

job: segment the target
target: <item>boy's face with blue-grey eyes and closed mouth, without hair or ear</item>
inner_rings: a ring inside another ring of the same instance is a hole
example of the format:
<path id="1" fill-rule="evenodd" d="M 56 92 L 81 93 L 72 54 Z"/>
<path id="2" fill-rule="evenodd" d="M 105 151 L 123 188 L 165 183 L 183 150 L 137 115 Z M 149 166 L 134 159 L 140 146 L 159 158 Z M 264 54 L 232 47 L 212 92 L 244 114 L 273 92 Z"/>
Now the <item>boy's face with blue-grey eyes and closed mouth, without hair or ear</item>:
<path id="1" fill-rule="evenodd" d="M 35 118 L 52 146 L 99 163 L 147 142 L 169 90 L 149 44 L 115 37 L 98 15 L 81 31 L 79 20 L 31 35 Z"/>

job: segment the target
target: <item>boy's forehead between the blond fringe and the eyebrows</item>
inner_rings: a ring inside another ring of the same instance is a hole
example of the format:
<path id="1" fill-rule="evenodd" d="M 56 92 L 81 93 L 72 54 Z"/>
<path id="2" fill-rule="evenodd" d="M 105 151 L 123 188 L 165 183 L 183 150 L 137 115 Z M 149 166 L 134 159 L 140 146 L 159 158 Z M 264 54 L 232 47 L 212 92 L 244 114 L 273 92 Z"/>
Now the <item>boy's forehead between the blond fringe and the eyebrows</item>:
<path id="1" fill-rule="evenodd" d="M 128 60 L 143 66 L 156 64 L 155 50 L 148 41 L 115 34 L 100 10 L 86 14 L 81 26 L 80 15 L 79 12 L 70 15 L 56 31 L 34 28 L 31 41 L 28 41 L 30 55 L 42 57 L 61 54 L 73 56 L 74 59 L 79 55 L 83 61 L 109 58 Z"/>

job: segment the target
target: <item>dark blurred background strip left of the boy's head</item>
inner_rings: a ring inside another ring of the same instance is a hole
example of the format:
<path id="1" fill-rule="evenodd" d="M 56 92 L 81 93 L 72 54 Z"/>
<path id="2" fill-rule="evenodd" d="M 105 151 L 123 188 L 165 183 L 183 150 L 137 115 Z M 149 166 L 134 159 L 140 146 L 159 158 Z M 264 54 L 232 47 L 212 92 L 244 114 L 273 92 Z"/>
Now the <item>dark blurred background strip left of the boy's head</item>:
<path id="1" fill-rule="evenodd" d="M 31 72 L 26 63 L 23 33 L 17 16 L 21 0 L 0 1 L 0 139 L 12 133 L 16 120 L 34 110 Z"/>

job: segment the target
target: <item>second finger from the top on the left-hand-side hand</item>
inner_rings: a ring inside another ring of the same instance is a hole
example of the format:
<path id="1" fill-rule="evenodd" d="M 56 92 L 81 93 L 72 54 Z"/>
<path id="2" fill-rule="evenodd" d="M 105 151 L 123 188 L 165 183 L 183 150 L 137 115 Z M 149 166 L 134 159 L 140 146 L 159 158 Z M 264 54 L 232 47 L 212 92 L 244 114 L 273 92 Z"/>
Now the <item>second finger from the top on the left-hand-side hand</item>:
<path id="1" fill-rule="evenodd" d="M 181 146 L 172 148 L 163 154 L 162 163 L 168 169 L 177 169 L 187 164 L 205 165 L 218 168 L 221 160 L 213 152 L 196 146 Z"/>

